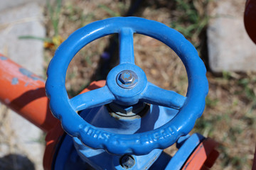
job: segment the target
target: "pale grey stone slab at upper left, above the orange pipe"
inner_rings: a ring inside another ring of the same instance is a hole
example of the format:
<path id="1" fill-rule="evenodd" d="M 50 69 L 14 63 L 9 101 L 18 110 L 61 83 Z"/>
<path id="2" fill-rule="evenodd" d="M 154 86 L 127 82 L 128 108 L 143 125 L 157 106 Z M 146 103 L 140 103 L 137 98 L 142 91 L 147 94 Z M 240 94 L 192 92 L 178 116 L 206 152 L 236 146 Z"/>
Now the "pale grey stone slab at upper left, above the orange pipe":
<path id="1" fill-rule="evenodd" d="M 19 39 L 22 35 L 45 36 L 40 6 L 26 4 L 0 13 L 0 52 L 36 74 L 43 74 L 43 42 Z"/>

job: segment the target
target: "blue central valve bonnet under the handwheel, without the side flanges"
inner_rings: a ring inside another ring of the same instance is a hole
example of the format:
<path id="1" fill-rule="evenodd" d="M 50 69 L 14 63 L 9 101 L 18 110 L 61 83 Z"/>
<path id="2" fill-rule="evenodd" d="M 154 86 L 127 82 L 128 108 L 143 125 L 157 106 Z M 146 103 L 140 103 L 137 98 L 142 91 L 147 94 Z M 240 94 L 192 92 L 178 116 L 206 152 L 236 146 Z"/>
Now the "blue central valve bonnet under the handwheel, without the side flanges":
<path id="1" fill-rule="evenodd" d="M 151 105 L 148 113 L 141 119 L 117 120 L 108 114 L 105 106 L 102 106 L 82 111 L 80 116 L 91 125 L 102 130 L 119 134 L 134 134 L 159 128 L 168 123 L 177 113 L 178 111 L 173 108 Z M 82 160 L 95 169 L 123 169 L 119 164 L 119 159 L 122 155 L 110 154 L 104 149 L 85 147 L 77 137 L 74 137 L 74 144 Z M 131 169 L 149 169 L 161 152 L 161 149 L 154 149 L 146 155 L 137 156 L 133 154 L 132 157 L 134 157 L 135 164 Z"/>

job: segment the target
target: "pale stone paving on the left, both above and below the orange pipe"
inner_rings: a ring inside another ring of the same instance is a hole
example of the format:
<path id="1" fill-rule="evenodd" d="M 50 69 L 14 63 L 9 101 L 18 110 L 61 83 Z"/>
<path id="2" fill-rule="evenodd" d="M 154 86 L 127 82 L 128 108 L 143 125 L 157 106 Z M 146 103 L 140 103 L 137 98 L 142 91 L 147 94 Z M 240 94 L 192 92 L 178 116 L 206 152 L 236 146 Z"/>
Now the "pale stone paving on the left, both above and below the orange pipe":
<path id="1" fill-rule="evenodd" d="M 34 2 L 26 3 L 26 1 L 20 0 L 17 3 L 22 5 L 9 4 L 5 9 L 0 8 L 0 53 L 31 72 L 43 75 L 43 42 L 18 38 L 21 35 L 45 36 L 42 8 Z M 8 9 L 7 7 L 10 6 L 11 8 Z M 4 106 L 0 107 L 4 108 Z M 0 127 L 3 133 L 1 137 L 3 137 L 2 140 L 8 140 L 7 142 L 0 140 L 2 142 L 0 158 L 6 157 L 8 154 L 21 154 L 31 160 L 36 169 L 43 169 L 42 131 L 13 111 L 3 110 L 0 113 L 0 115 L 4 114 L 4 124 L 1 124 Z M 17 166 L 22 167 L 22 164 L 26 164 L 26 162 L 18 162 Z"/>

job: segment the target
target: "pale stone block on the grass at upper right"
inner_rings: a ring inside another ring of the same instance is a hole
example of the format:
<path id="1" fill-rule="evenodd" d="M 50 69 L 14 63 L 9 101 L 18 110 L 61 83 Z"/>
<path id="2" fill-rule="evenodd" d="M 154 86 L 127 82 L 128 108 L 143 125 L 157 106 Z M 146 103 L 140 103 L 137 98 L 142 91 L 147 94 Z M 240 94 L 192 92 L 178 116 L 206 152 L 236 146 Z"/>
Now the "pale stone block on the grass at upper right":
<path id="1" fill-rule="evenodd" d="M 245 1 L 215 0 L 209 8 L 210 69 L 213 72 L 256 71 L 256 45 L 247 35 L 243 23 Z"/>

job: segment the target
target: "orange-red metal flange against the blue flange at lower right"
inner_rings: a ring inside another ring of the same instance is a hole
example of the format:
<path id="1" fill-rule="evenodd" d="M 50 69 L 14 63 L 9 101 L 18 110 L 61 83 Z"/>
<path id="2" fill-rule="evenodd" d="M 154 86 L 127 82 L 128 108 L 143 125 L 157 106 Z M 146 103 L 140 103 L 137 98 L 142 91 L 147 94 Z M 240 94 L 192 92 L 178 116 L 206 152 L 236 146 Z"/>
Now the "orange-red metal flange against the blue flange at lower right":
<path id="1" fill-rule="evenodd" d="M 210 138 L 203 140 L 200 145 L 193 151 L 183 166 L 183 170 L 207 170 L 213 166 L 215 160 L 218 158 L 218 151 L 215 147 L 218 143 Z"/>

